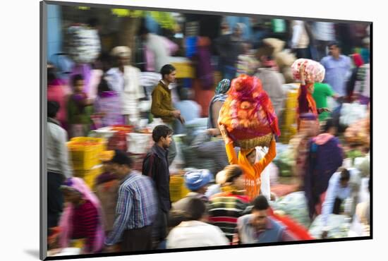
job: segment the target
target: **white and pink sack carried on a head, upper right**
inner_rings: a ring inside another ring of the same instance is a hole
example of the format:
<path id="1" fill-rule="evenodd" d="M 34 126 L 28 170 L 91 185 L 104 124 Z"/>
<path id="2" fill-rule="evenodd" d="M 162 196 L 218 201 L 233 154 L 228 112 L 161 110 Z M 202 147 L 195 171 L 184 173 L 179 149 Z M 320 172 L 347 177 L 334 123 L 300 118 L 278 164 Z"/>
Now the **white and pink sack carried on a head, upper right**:
<path id="1" fill-rule="evenodd" d="M 294 80 L 301 80 L 300 68 L 305 64 L 305 81 L 308 83 L 322 83 L 325 78 L 325 67 L 317 61 L 298 59 L 293 62 L 291 71 Z"/>

